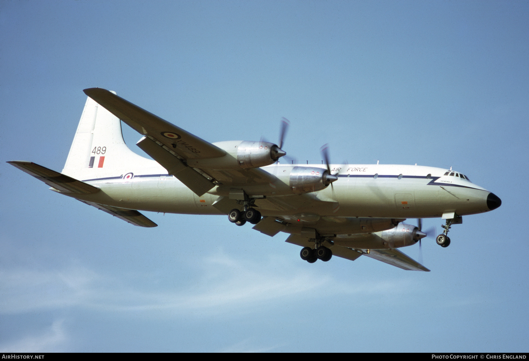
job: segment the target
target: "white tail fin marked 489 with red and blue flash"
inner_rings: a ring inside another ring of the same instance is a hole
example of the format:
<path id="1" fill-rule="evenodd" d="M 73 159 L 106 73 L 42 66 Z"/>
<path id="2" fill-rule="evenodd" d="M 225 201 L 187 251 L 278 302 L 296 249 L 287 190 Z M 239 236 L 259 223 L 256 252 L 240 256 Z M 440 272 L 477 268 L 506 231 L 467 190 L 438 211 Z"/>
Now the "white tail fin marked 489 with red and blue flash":
<path id="1" fill-rule="evenodd" d="M 62 173 L 96 178 L 130 172 L 131 167 L 149 167 L 152 162 L 125 145 L 121 121 L 88 97 Z"/>

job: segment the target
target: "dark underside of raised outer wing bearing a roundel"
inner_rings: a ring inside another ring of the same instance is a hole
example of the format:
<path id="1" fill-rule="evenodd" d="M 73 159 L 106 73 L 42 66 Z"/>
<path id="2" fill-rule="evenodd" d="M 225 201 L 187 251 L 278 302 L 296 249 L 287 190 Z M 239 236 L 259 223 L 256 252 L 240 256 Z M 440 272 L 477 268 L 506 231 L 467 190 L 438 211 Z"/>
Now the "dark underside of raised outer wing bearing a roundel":
<path id="1" fill-rule="evenodd" d="M 161 119 L 122 97 L 102 88 L 84 89 L 86 95 L 117 116 L 138 133 L 150 136 L 172 148 L 184 159 L 223 157 L 226 151 Z"/>

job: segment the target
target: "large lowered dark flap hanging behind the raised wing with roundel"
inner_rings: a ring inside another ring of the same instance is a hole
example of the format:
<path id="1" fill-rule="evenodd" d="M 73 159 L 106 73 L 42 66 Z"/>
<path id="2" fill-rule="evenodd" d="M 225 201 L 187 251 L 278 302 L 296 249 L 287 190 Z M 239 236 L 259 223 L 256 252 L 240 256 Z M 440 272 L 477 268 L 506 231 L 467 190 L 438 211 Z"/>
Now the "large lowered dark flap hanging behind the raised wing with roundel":
<path id="1" fill-rule="evenodd" d="M 166 168 L 170 175 L 177 177 L 180 182 L 184 183 L 198 196 L 203 195 L 215 186 L 213 182 L 195 169 L 185 165 L 180 159 L 170 154 L 169 151 L 150 138 L 144 137 L 136 145 L 150 155 L 152 159 L 156 160 L 163 168 Z"/>

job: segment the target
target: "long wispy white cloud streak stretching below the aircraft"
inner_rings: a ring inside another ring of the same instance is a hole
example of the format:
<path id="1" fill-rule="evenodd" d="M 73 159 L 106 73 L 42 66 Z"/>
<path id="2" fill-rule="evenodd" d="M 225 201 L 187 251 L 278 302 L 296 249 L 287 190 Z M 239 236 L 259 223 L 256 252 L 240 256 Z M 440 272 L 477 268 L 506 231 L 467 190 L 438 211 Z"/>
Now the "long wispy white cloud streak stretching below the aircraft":
<path id="1" fill-rule="evenodd" d="M 62 270 L 4 270 L 0 273 L 0 312 L 24 313 L 80 307 L 108 311 L 162 311 L 171 314 L 251 312 L 274 302 L 308 300 L 339 294 L 376 295 L 405 292 L 407 281 L 341 283 L 331 275 L 307 272 L 283 259 L 262 263 L 226 255 L 200 263 L 194 286 L 187 289 L 140 290 L 132 282 L 72 266 Z M 141 286 L 140 286 L 141 287 Z"/>

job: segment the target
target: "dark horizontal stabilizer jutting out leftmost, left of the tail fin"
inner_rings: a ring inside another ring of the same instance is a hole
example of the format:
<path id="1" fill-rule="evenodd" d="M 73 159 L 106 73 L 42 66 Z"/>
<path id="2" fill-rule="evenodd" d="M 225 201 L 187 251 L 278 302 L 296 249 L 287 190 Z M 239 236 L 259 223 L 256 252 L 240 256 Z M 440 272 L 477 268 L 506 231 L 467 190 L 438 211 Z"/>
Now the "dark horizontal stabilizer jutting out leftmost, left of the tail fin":
<path id="1" fill-rule="evenodd" d="M 99 188 L 97 187 L 30 161 L 13 160 L 8 161 L 7 163 L 23 170 L 23 172 L 28 173 L 39 180 L 42 180 L 42 182 L 57 189 L 57 191 L 61 193 L 93 194 L 99 192 Z"/>

